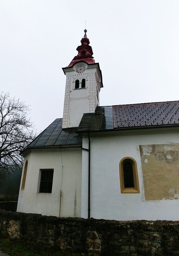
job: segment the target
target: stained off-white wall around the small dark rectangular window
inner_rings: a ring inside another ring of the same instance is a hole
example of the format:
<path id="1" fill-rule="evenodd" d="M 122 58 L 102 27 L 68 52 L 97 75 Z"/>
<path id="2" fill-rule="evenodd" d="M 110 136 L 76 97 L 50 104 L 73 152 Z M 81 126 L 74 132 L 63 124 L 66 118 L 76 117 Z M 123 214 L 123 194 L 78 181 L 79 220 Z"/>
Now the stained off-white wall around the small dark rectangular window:
<path id="1" fill-rule="evenodd" d="M 25 157 L 25 163 L 26 160 L 28 168 L 25 189 L 21 190 L 20 184 L 17 211 L 54 216 L 59 216 L 60 212 L 63 217 L 80 217 L 81 150 L 60 152 L 59 149 L 38 149 Z M 39 170 L 48 168 L 54 169 L 52 193 L 39 193 Z"/>

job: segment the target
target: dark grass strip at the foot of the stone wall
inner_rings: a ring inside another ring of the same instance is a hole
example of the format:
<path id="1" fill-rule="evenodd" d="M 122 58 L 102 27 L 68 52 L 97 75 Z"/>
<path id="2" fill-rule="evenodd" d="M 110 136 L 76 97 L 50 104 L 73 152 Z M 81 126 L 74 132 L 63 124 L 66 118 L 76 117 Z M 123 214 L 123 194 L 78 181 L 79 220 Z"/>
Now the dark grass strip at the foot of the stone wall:
<path id="1" fill-rule="evenodd" d="M 93 253 L 60 253 L 57 248 L 51 249 L 39 249 L 33 246 L 24 244 L 23 242 L 10 240 L 10 239 L 0 239 L 0 250 L 12 256 L 95 256 Z"/>

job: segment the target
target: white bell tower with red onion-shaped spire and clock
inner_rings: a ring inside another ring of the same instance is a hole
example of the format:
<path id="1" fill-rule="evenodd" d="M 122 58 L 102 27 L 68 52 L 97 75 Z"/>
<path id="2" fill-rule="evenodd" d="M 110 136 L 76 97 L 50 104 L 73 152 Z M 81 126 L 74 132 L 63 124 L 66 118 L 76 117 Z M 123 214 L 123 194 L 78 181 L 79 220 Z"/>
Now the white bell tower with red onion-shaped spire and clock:
<path id="1" fill-rule="evenodd" d="M 78 54 L 68 67 L 66 75 L 62 128 L 78 127 L 84 113 L 94 113 L 99 106 L 99 92 L 103 87 L 99 63 L 95 63 L 92 47 L 84 30 Z"/>

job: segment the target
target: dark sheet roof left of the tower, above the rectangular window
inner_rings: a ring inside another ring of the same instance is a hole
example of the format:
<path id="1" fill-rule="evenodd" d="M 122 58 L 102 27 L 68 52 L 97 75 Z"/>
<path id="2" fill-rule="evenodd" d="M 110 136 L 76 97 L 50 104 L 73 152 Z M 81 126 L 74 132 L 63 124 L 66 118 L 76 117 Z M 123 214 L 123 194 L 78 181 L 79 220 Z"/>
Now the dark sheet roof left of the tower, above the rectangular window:
<path id="1" fill-rule="evenodd" d="M 82 137 L 76 131 L 77 128 L 62 130 L 62 118 L 56 119 L 29 144 L 28 148 L 81 146 Z"/>

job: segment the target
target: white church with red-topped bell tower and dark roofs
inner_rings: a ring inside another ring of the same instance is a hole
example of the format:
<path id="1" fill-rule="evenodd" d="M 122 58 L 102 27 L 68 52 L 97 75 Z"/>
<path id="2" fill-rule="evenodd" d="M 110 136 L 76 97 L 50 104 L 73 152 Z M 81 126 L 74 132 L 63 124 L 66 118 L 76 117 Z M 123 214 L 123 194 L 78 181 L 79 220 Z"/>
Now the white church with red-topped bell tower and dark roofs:
<path id="1" fill-rule="evenodd" d="M 63 68 L 63 118 L 22 152 L 17 211 L 178 220 L 179 101 L 100 106 L 102 72 L 86 32 Z"/>

